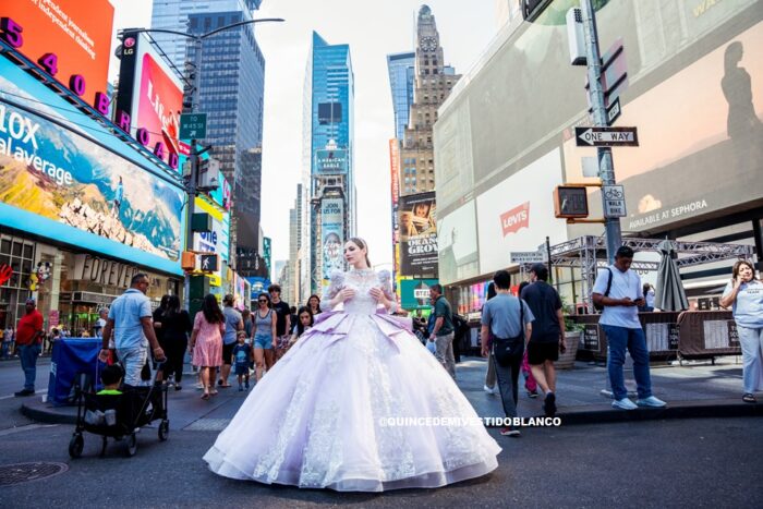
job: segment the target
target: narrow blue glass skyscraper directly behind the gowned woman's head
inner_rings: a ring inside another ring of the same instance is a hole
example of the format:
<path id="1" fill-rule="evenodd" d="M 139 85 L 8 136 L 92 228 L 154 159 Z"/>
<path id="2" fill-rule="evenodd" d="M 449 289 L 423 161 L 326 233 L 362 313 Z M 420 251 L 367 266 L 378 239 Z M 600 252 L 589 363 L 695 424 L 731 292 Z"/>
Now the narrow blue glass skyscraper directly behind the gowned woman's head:
<path id="1" fill-rule="evenodd" d="M 311 250 L 304 250 L 311 293 L 327 282 L 336 244 L 355 232 L 354 76 L 349 45 L 313 33 L 304 90 L 304 184 Z M 330 214 L 328 211 L 330 210 Z M 341 251 L 341 250 L 340 250 Z"/>

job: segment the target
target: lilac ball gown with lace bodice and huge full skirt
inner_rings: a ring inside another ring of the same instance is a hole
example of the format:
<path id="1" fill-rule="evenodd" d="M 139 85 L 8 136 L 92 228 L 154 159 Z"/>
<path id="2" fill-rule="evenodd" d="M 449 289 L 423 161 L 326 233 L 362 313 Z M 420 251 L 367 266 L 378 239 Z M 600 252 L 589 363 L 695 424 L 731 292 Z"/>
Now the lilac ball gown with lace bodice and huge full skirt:
<path id="1" fill-rule="evenodd" d="M 256 385 L 204 456 L 209 469 L 346 492 L 431 488 L 495 470 L 500 447 L 410 319 L 377 311 L 368 290 L 393 301 L 389 272 L 334 272 L 324 302 L 344 287 L 355 296 L 318 315 Z M 410 417 L 417 424 L 404 425 Z"/>

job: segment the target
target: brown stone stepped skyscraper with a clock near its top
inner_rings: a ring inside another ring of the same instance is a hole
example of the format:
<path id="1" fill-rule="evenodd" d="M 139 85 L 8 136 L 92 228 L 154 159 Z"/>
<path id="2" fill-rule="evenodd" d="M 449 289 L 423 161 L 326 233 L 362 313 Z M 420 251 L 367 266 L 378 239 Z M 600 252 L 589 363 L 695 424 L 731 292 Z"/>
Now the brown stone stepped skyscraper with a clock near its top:
<path id="1" fill-rule="evenodd" d="M 413 105 L 400 156 L 401 196 L 435 189 L 432 129 L 437 121 L 437 109 L 461 77 L 444 64 L 437 24 L 427 5 L 419 10 L 415 54 Z"/>

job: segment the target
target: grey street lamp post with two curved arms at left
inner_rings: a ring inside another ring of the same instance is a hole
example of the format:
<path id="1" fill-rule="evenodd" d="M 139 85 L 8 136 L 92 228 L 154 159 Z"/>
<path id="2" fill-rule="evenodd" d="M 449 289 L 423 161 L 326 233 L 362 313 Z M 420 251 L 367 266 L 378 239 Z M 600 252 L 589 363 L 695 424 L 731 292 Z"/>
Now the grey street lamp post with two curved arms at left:
<path id="1" fill-rule="evenodd" d="M 181 37 L 186 37 L 189 39 L 193 39 L 194 43 L 194 57 L 193 57 L 193 66 L 194 66 L 194 80 L 193 80 L 193 92 L 192 92 L 192 99 L 191 99 L 191 108 L 190 112 L 194 112 L 199 106 L 199 97 L 198 97 L 198 90 L 199 86 L 202 83 L 202 77 L 201 77 L 201 70 L 202 70 L 202 44 L 204 43 L 204 39 L 211 37 L 213 35 L 219 34 L 220 32 L 229 31 L 231 28 L 238 28 L 239 26 L 243 25 L 253 25 L 255 23 L 267 23 L 267 22 L 276 22 L 280 23 L 283 22 L 284 20 L 281 17 L 262 17 L 258 20 L 245 20 L 241 21 L 238 23 L 231 23 L 230 25 L 222 26 L 220 28 L 214 29 L 211 32 L 207 32 L 206 34 L 202 35 L 195 35 L 195 34 L 189 34 L 185 32 L 178 32 L 178 31 L 169 31 L 165 28 L 143 28 L 143 29 L 137 29 L 134 32 L 152 32 L 152 33 L 159 33 L 159 34 L 172 34 L 172 35 L 179 35 Z M 191 223 L 193 220 L 193 215 L 195 213 L 195 198 L 196 198 L 196 180 L 198 179 L 198 158 L 199 156 L 206 152 L 202 150 L 198 152 L 196 149 L 196 140 L 191 140 L 191 154 L 190 154 L 190 159 L 191 159 L 191 177 L 189 179 L 189 182 L 185 186 L 185 192 L 189 196 L 189 210 L 187 210 L 187 217 L 185 221 L 185 249 L 186 251 L 190 251 L 193 247 L 193 225 Z M 183 289 L 183 300 L 185 301 L 185 308 L 190 311 L 190 305 L 191 305 L 191 276 L 186 272 L 185 274 L 185 284 Z"/>

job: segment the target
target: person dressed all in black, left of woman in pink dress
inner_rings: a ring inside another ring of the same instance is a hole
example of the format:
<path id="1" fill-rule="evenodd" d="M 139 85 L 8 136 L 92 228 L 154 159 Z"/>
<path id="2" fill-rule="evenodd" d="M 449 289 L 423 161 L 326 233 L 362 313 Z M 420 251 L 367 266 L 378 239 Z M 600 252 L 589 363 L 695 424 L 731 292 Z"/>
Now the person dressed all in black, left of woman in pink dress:
<path id="1" fill-rule="evenodd" d="M 173 379 L 174 390 L 181 390 L 183 380 L 183 360 L 189 348 L 189 335 L 193 330 L 189 312 L 180 307 L 178 295 L 168 295 L 167 305 L 157 318 L 161 324 L 159 343 L 165 350 L 167 362 L 161 371 L 165 380 Z M 156 325 L 156 322 L 154 323 Z"/>

